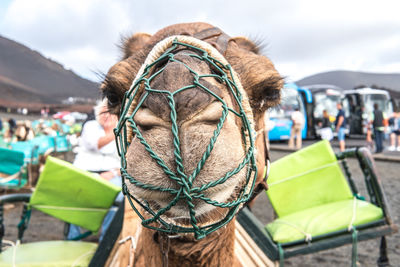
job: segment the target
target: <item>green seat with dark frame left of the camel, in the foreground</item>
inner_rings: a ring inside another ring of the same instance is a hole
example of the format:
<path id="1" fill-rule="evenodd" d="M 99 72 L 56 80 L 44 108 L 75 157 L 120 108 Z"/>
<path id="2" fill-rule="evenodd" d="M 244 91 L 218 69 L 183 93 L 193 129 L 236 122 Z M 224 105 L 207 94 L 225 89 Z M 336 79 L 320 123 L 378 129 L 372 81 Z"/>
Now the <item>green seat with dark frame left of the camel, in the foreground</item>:
<path id="1" fill-rule="evenodd" d="M 66 161 L 49 156 L 32 195 L 15 194 L 0 197 L 0 208 L 2 209 L 2 205 L 7 202 L 29 200 L 18 227 L 20 238 L 28 226 L 32 209 L 96 233 L 120 191 L 120 187 L 97 174 L 78 169 Z M 115 229 L 118 231 L 115 232 L 114 227 L 109 227 L 112 230 L 105 233 L 103 240 L 115 242 L 118 237 L 122 227 L 123 205 L 119 205 L 117 214 L 111 225 L 117 222 Z M 0 223 L 3 223 L 2 218 Z M 4 226 L 0 225 L 1 227 Z M 3 236 L 0 236 L 0 245 L 2 238 Z M 100 262 L 104 262 L 107 257 L 104 253 L 112 248 L 112 244 L 100 245 L 101 249 L 97 249 L 98 245 L 95 243 L 82 241 L 22 243 L 16 248 L 9 247 L 0 254 L 0 266 L 12 266 L 13 263 L 17 266 L 88 266 L 95 253 L 101 258 Z M 16 249 L 15 258 L 13 258 L 14 249 Z M 97 266 L 97 263 L 91 266 Z"/>

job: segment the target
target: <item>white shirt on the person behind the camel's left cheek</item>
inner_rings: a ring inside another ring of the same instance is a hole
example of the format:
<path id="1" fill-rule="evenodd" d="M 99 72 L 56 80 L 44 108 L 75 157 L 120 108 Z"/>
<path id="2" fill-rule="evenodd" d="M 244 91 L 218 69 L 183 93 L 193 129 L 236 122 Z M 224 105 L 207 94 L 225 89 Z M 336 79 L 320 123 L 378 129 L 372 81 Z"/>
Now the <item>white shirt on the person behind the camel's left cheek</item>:
<path id="1" fill-rule="evenodd" d="M 88 171 L 109 171 L 120 168 L 121 161 L 115 141 L 98 148 L 98 141 L 104 135 L 104 129 L 97 121 L 86 122 L 79 140 L 78 154 L 74 160 L 76 167 Z"/>

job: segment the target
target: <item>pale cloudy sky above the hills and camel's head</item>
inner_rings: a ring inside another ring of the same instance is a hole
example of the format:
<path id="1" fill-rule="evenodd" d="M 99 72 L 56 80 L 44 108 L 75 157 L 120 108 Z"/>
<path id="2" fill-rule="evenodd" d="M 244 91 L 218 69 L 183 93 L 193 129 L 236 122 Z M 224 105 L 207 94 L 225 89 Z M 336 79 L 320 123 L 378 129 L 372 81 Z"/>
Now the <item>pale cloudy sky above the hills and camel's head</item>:
<path id="1" fill-rule="evenodd" d="M 121 36 L 203 21 L 262 40 L 296 81 L 333 70 L 400 73 L 398 0 L 0 0 L 0 35 L 99 82 Z M 1 51 L 0 51 L 1 53 Z"/>

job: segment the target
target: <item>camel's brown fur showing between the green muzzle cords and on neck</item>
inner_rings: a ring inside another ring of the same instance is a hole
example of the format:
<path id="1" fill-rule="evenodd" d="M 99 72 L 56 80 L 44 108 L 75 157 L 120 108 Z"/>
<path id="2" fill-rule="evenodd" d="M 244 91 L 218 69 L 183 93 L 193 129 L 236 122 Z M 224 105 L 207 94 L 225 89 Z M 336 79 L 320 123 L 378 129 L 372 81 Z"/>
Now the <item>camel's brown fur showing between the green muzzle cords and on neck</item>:
<path id="1" fill-rule="evenodd" d="M 108 98 L 110 110 L 118 113 L 125 91 L 130 87 L 146 55 L 158 41 L 170 35 L 193 36 L 197 32 L 210 27 L 212 26 L 206 23 L 177 24 L 166 27 L 151 37 L 140 34 L 128 39 L 125 42 L 124 59 L 110 69 L 101 86 L 103 94 Z M 213 42 L 213 40 L 207 41 Z M 256 122 L 255 129 L 263 129 L 262 116 L 264 111 L 279 101 L 280 89 L 283 86 L 281 76 L 266 57 L 258 54 L 257 46 L 248 39 L 231 38 L 226 51 L 220 52 L 224 53 L 228 62 L 238 73 L 249 96 Z M 176 57 L 180 57 L 182 61 L 197 72 L 210 73 L 209 66 L 204 62 L 193 60 L 184 55 L 177 55 Z M 192 79 L 191 74 L 180 65 L 168 63 L 164 72 L 152 81 L 151 86 L 156 89 L 175 91 L 177 88 L 192 84 Z M 206 83 L 208 88 L 223 98 L 229 107 L 235 108 L 231 95 L 223 84 L 211 78 L 204 79 L 202 83 Z M 185 173 L 191 173 L 209 143 L 220 117 L 221 107 L 220 105 L 212 105 L 213 99 L 201 90 L 191 89 L 179 93 L 175 97 L 183 164 Z M 157 94 L 149 97 L 135 115 L 135 120 L 152 149 L 171 170 L 175 171 L 176 163 L 173 155 L 169 108 L 165 98 Z M 241 162 L 244 156 L 244 148 L 240 135 L 241 125 L 238 121 L 232 113 L 228 115 L 209 159 L 194 181 L 194 186 L 221 177 L 227 171 L 236 168 Z M 259 135 L 256 139 L 258 182 L 262 178 L 262 170 L 265 165 L 263 152 L 265 141 L 262 136 Z M 164 174 L 137 139 L 134 139 L 130 144 L 126 158 L 127 170 L 137 180 L 156 186 L 177 188 L 175 181 Z M 235 194 L 235 189 L 243 183 L 244 175 L 243 169 L 243 171 L 228 179 L 226 183 L 207 190 L 205 195 L 210 198 L 219 197 L 219 201 L 227 201 Z M 128 184 L 128 189 L 136 197 L 152 199 L 154 203 L 150 203 L 150 205 L 154 208 L 165 206 L 171 200 L 171 196 L 167 193 L 143 190 L 130 184 Z M 213 209 L 207 204 L 204 205 L 200 201 L 195 201 L 194 204 L 196 205 L 196 214 L 199 215 L 198 219 L 203 222 L 218 220 L 225 213 L 223 210 Z M 169 216 L 172 220 L 179 220 L 173 217 L 187 217 L 186 203 L 179 201 L 166 216 Z M 129 227 L 129 221 L 126 219 L 123 230 L 125 236 L 129 233 Z M 125 236 L 122 236 L 122 238 Z M 160 244 L 153 237 L 154 231 L 147 228 L 142 229 L 134 255 L 135 266 L 161 265 Z M 168 254 L 169 266 L 237 266 L 238 262 L 234 257 L 234 239 L 234 221 L 231 221 L 225 228 L 219 229 L 199 241 L 171 240 Z M 158 242 L 162 241 L 158 240 Z M 119 255 L 128 253 L 126 246 L 122 246 L 119 252 L 117 252 Z M 127 263 L 124 262 L 123 264 Z"/>

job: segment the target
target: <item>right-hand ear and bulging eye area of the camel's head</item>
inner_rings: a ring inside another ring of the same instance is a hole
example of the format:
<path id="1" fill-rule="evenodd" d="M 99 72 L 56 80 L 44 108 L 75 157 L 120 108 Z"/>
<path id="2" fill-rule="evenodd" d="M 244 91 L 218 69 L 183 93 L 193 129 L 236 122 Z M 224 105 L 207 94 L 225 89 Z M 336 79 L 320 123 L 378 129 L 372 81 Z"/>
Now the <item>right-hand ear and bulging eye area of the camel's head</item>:
<path id="1" fill-rule="evenodd" d="M 257 54 L 257 46 L 244 37 L 231 38 L 226 59 L 238 73 L 255 115 L 263 114 L 280 101 L 283 78 L 274 64 Z"/>

